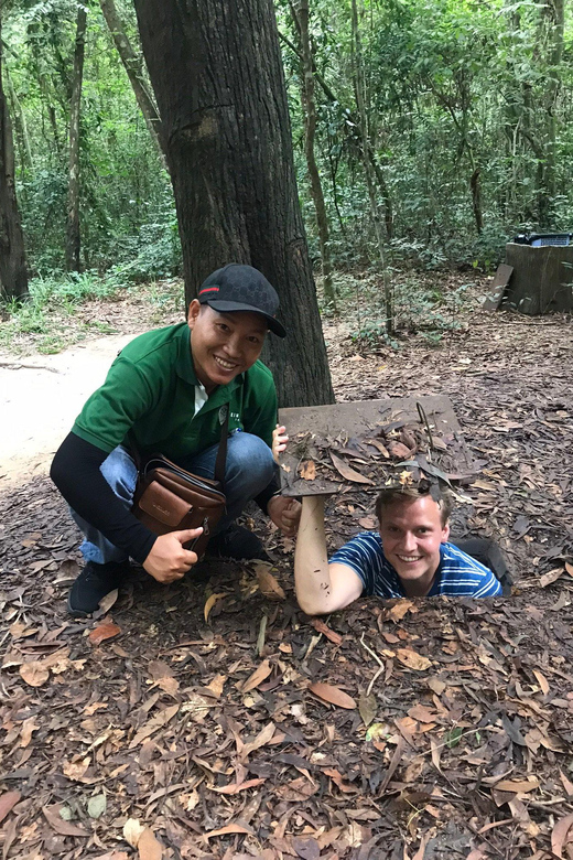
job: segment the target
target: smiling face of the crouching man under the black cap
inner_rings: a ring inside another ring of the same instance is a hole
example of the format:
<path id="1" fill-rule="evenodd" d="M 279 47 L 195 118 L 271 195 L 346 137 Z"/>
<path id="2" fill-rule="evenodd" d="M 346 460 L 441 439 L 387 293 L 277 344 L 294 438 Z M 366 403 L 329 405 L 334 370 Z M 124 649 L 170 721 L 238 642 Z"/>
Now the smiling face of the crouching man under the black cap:
<path id="1" fill-rule="evenodd" d="M 267 321 L 259 313 L 219 313 L 194 299 L 187 318 L 193 333 L 191 348 L 197 379 L 207 391 L 226 385 L 251 367 L 259 357 Z"/>

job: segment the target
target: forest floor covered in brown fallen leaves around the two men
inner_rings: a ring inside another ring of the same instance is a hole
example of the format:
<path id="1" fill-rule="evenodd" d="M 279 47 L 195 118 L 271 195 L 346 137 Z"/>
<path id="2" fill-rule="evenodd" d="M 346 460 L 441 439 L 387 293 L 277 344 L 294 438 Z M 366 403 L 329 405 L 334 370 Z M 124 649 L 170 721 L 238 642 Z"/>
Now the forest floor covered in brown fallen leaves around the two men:
<path id="1" fill-rule="evenodd" d="M 292 541 L 267 530 L 272 569 L 205 562 L 169 588 L 134 570 L 78 623 L 65 505 L 47 479 L 12 488 L 3 860 L 572 860 L 571 321 L 469 308 L 398 350 L 353 326 L 325 326 L 337 398 L 451 397 L 483 464 L 456 534 L 499 541 L 513 594 L 312 620 Z M 331 503 L 332 547 L 371 517 Z"/>

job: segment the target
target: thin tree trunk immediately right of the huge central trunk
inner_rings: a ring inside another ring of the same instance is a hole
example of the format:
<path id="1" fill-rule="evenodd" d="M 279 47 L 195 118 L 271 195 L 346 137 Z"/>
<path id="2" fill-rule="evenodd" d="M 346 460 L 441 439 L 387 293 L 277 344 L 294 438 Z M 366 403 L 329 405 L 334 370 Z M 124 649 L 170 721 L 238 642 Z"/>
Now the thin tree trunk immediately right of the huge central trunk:
<path id="1" fill-rule="evenodd" d="M 316 103 L 314 99 L 314 74 L 311 39 L 309 34 L 309 0 L 300 0 L 299 9 L 291 3 L 291 11 L 299 26 L 301 39 L 302 68 L 301 94 L 304 116 L 304 154 L 306 168 L 311 180 L 311 193 L 316 213 L 316 226 L 318 228 L 318 243 L 321 246 L 321 261 L 323 272 L 324 298 L 336 313 L 336 294 L 333 286 L 333 267 L 331 261 L 328 216 L 324 203 L 321 175 L 316 164 L 314 140 L 316 137 Z"/>

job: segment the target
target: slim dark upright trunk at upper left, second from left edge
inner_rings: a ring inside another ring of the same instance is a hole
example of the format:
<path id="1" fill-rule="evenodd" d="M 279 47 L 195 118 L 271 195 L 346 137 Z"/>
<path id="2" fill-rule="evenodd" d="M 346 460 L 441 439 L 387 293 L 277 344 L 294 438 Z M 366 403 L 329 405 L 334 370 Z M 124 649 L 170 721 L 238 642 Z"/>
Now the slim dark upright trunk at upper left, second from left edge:
<path id="1" fill-rule="evenodd" d="M 82 79 L 84 77 L 84 54 L 86 47 L 87 13 L 78 7 L 76 24 L 76 47 L 69 104 L 69 168 L 67 192 L 66 266 L 68 271 L 79 271 L 79 108 L 82 104 Z"/>

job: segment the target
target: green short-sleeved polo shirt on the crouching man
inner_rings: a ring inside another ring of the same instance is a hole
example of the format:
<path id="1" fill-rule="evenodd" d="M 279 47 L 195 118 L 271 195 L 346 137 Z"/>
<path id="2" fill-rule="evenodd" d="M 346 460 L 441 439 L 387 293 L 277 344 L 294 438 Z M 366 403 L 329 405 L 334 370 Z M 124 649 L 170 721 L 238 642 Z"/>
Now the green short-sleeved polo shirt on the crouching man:
<path id="1" fill-rule="evenodd" d="M 177 462 L 217 444 L 219 409 L 229 404 L 229 432 L 240 428 L 272 445 L 277 391 L 262 362 L 217 386 L 194 416 L 196 385 L 187 324 L 148 332 L 120 352 L 72 430 L 107 453 L 126 444 Z"/>

